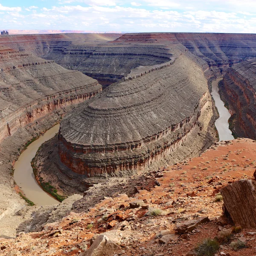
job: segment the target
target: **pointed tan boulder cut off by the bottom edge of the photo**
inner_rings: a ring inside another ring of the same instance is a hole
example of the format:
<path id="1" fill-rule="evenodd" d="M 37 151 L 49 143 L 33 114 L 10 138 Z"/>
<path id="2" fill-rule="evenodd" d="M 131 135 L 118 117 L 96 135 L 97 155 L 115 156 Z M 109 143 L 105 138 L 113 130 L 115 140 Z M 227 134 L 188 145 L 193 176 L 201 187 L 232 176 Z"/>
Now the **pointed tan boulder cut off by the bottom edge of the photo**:
<path id="1" fill-rule="evenodd" d="M 93 241 L 90 248 L 84 253 L 80 253 L 79 256 L 107 256 L 119 249 L 120 247 L 107 236 L 100 235 Z"/>

